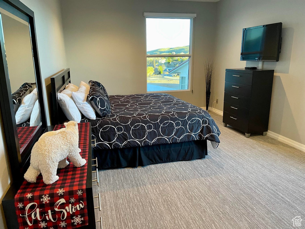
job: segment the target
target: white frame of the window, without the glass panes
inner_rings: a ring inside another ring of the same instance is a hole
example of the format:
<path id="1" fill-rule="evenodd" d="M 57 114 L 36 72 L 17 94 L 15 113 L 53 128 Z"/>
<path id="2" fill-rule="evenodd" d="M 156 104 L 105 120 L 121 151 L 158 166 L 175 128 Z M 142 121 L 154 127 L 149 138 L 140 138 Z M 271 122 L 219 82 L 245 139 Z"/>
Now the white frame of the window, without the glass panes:
<path id="1" fill-rule="evenodd" d="M 147 91 L 147 71 L 146 72 L 146 93 L 167 93 L 167 92 L 185 92 L 193 91 L 192 73 L 193 73 L 193 43 L 194 43 L 194 19 L 196 13 L 144 13 L 145 17 L 145 65 L 147 69 L 147 57 L 188 57 L 188 89 L 185 90 L 168 90 L 168 91 Z M 175 54 L 175 55 L 147 55 L 147 39 L 146 39 L 146 18 L 172 18 L 172 19 L 191 19 L 190 24 L 190 48 L 189 54 Z"/>

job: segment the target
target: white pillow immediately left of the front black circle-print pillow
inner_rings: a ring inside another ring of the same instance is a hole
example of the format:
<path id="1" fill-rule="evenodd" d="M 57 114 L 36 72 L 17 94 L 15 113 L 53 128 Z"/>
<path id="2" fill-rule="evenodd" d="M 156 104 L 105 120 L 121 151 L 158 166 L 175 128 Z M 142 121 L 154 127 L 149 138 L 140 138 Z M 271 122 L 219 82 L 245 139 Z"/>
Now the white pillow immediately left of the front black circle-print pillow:
<path id="1" fill-rule="evenodd" d="M 80 85 L 77 92 L 72 92 L 72 99 L 86 118 L 95 120 L 95 110 L 91 106 L 90 101 L 86 101 L 88 93 L 89 91 L 87 92 L 86 86 Z"/>

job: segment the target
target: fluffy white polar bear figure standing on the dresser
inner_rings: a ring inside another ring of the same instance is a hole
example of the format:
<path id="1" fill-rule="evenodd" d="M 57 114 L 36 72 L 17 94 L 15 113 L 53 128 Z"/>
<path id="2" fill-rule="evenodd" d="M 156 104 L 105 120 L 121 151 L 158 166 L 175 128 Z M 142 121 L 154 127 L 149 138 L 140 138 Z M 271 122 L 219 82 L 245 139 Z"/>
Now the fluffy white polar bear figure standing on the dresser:
<path id="1" fill-rule="evenodd" d="M 81 149 L 78 148 L 77 122 L 66 122 L 65 126 L 66 128 L 44 133 L 34 144 L 30 167 L 24 174 L 24 179 L 28 182 L 36 182 L 41 173 L 45 184 L 54 183 L 59 179 L 56 176 L 57 168 L 69 165 L 67 157 L 76 167 L 86 164 L 86 160 L 79 154 Z"/>

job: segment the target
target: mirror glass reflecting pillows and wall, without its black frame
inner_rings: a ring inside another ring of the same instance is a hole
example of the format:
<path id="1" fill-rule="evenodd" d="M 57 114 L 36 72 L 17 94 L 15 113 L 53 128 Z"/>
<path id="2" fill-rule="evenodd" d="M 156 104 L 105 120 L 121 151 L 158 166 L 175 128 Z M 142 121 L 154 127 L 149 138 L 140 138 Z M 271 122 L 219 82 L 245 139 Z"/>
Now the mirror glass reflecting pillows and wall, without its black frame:
<path id="1" fill-rule="evenodd" d="M 0 8 L 20 153 L 41 124 L 28 18 Z"/>

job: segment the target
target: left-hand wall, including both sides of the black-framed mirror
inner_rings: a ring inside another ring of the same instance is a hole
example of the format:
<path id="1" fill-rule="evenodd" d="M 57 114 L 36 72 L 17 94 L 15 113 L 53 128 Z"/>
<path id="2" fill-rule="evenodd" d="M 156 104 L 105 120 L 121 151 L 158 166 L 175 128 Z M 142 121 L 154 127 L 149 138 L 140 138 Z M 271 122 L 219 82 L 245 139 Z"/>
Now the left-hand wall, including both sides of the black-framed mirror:
<path id="1" fill-rule="evenodd" d="M 35 13 L 36 34 L 39 49 L 41 75 L 45 86 L 48 86 L 49 77 L 66 68 L 66 55 L 63 44 L 63 29 L 58 0 L 21 0 Z M 44 98 L 47 97 L 46 90 Z M 45 99 L 46 101 L 46 99 Z M 47 104 L 46 104 L 47 105 Z M 48 107 L 47 118 L 48 117 Z M 1 118 L 1 117 L 0 117 Z M 11 184 L 8 152 L 5 146 L 5 135 L 2 122 L 0 122 L 0 203 Z M 0 228 L 6 228 L 2 205 L 0 204 Z"/>

